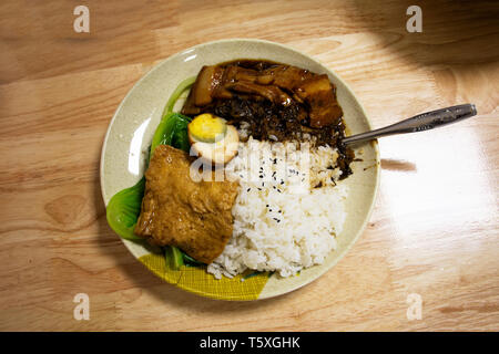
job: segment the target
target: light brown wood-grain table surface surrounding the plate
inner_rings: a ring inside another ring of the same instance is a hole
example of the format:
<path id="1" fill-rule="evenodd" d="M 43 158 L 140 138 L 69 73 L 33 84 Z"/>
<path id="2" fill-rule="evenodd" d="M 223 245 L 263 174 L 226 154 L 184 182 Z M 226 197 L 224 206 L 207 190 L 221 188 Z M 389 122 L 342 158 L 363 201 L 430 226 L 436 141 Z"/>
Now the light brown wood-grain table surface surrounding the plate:
<path id="1" fill-rule="evenodd" d="M 497 1 L 92 0 L 90 33 L 73 30 L 78 4 L 0 3 L 0 330 L 499 330 Z M 422 33 L 406 31 L 410 4 Z M 126 92 L 159 61 L 226 38 L 324 62 L 375 127 L 460 103 L 479 112 L 383 138 L 376 207 L 354 248 L 309 285 L 256 302 L 155 278 L 109 228 L 100 191 Z M 73 317 L 78 293 L 89 321 Z"/>

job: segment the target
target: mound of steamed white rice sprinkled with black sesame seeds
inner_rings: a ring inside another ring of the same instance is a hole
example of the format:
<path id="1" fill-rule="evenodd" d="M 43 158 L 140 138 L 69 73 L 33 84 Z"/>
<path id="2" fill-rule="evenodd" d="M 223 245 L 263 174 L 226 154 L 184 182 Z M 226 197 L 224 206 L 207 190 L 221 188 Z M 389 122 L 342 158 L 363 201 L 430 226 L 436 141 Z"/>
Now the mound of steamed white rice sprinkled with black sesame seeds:
<path id="1" fill-rule="evenodd" d="M 226 166 L 226 177 L 241 186 L 233 236 L 207 271 L 217 279 L 247 269 L 289 277 L 323 263 L 346 217 L 347 187 L 338 181 L 337 156 L 329 146 L 297 142 L 249 137 L 240 144 Z"/>

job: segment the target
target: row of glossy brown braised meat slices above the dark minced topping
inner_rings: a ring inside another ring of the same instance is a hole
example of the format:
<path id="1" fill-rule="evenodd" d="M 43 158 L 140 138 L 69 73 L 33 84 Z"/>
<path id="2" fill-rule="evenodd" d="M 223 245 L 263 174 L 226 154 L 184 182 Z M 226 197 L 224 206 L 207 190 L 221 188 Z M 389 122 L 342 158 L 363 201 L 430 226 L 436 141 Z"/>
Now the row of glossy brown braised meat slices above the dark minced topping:
<path id="1" fill-rule="evenodd" d="M 304 119 L 301 114 L 299 122 L 313 128 L 337 124 L 342 118 L 335 87 L 327 75 L 284 64 L 271 64 L 264 69 L 263 65 L 242 65 L 235 62 L 203 66 L 182 113 L 194 115 L 210 112 L 220 101 L 240 95 L 254 102 L 264 98 L 281 106 L 293 103 L 302 105 L 308 118 Z"/>

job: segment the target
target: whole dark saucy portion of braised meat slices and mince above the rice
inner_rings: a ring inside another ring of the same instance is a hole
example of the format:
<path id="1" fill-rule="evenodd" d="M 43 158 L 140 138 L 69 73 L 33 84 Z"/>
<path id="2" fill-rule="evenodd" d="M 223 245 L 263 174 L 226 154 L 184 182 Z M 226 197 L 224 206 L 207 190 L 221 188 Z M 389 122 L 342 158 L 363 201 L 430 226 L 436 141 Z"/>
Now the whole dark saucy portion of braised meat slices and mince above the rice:
<path id="1" fill-rule="evenodd" d="M 345 137 L 343 110 L 326 74 L 263 60 L 203 66 L 182 108 L 185 115 L 213 113 L 261 140 L 305 140 L 337 147 L 342 178 L 352 174 L 354 152 Z"/>

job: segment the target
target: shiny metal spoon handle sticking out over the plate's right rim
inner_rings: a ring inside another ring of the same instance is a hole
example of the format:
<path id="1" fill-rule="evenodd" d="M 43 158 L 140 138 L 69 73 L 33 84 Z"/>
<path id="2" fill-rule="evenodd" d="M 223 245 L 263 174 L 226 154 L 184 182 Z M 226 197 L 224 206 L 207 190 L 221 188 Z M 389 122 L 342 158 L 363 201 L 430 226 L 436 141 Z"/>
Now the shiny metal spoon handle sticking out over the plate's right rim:
<path id="1" fill-rule="evenodd" d="M 426 112 L 408 119 L 391 124 L 384 128 L 356 134 L 343 139 L 344 144 L 353 144 L 364 140 L 374 139 L 381 136 L 416 133 L 422 131 L 429 131 L 444 126 L 447 124 L 456 123 L 465 118 L 472 117 L 477 114 L 475 104 L 460 104 L 458 106 L 451 106 L 437 111 Z"/>

